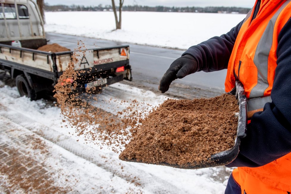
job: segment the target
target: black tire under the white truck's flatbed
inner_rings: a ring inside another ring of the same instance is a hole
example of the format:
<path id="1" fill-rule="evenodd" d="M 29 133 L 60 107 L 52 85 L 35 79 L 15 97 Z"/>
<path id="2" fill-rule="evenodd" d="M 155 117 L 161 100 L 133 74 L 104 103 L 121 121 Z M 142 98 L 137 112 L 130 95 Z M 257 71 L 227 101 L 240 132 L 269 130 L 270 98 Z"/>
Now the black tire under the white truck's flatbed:
<path id="1" fill-rule="evenodd" d="M 30 100 L 36 100 L 36 92 L 31 88 L 24 75 L 18 75 L 15 79 L 20 96 L 27 96 Z"/>

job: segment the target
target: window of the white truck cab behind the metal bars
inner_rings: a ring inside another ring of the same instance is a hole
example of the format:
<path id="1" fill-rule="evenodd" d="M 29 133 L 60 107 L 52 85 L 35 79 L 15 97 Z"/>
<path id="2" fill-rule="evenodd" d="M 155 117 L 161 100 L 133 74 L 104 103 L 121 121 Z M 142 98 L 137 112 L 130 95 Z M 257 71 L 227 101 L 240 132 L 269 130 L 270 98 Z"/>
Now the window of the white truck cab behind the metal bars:
<path id="1" fill-rule="evenodd" d="M 0 4 L 0 19 L 4 19 L 2 4 Z M 19 19 L 29 18 L 28 9 L 25 5 L 17 4 Z M 14 4 L 4 4 L 4 13 L 6 19 L 16 19 L 16 10 Z"/>

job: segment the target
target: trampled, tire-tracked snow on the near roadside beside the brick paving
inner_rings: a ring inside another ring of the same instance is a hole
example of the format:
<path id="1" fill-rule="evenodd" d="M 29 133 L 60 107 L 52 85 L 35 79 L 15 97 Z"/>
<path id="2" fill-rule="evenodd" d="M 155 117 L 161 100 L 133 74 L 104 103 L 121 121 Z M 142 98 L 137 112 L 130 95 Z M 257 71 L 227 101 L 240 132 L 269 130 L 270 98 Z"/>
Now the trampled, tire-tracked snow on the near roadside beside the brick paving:
<path id="1" fill-rule="evenodd" d="M 19 132 L 10 133 L 33 133 L 44 141 L 51 155 L 46 158 L 37 153 L 37 159 L 48 166 L 46 171 L 59 169 L 54 170 L 54 174 L 59 173 L 59 178 L 54 175 L 59 185 L 69 186 L 76 193 L 224 193 L 231 172 L 229 168 L 184 170 L 120 161 L 118 154 L 106 148 L 100 149 L 84 137 L 72 134 L 72 128 L 61 127 L 64 123 L 60 108 L 45 100 L 30 101 L 20 97 L 16 87 L 3 86 L 1 81 L 0 86 L 0 125 L 13 122 Z M 110 98 L 124 100 L 125 93 L 127 99 L 137 99 L 151 105 L 165 100 L 163 95 L 121 83 L 105 88 L 98 99 L 103 103 Z M 110 106 L 115 105 L 107 104 L 107 107 Z M 1 141 L 3 138 L 9 140 L 4 137 L 6 134 L 1 132 Z M 16 146 L 15 149 L 23 148 Z M 69 180 L 67 184 L 64 179 Z"/>

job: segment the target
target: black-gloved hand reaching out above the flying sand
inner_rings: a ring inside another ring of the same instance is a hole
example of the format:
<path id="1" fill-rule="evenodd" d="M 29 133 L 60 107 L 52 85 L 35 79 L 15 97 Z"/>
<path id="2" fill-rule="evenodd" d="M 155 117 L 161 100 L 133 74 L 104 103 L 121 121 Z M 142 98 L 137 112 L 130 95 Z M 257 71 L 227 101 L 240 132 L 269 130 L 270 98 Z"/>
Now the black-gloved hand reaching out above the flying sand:
<path id="1" fill-rule="evenodd" d="M 175 79 L 181 79 L 198 70 L 198 63 L 195 58 L 190 54 L 185 54 L 170 65 L 160 81 L 159 90 L 165 93 Z"/>

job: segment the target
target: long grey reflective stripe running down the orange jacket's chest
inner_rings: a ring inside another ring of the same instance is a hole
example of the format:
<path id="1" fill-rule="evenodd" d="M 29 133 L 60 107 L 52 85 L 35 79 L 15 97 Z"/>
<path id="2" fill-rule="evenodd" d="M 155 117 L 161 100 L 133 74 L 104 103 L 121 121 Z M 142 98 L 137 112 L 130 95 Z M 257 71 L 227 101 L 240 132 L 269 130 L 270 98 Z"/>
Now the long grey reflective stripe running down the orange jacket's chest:
<path id="1" fill-rule="evenodd" d="M 251 90 L 250 98 L 264 96 L 265 90 L 269 87 L 268 83 L 268 57 L 273 43 L 273 31 L 276 20 L 280 12 L 291 0 L 286 1 L 270 19 L 261 39 L 259 40 L 254 56 L 254 64 L 258 69 L 257 85 Z"/>

